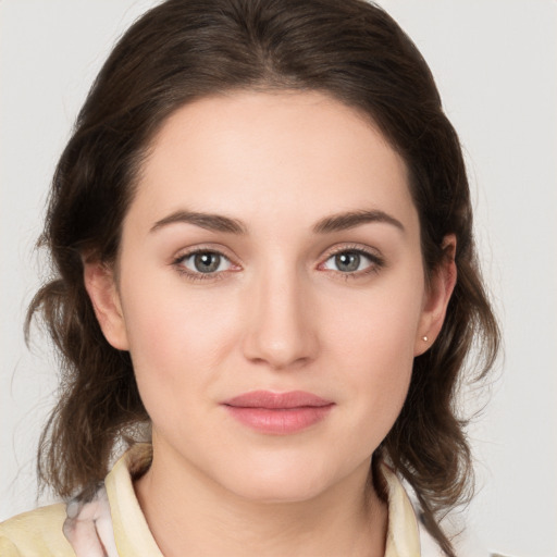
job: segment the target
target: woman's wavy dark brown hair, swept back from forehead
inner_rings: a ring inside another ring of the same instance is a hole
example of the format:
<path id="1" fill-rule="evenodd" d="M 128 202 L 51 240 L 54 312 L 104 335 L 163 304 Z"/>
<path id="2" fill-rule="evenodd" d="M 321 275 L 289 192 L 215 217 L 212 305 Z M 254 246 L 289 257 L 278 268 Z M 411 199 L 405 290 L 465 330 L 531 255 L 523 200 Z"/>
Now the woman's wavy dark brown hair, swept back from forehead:
<path id="1" fill-rule="evenodd" d="M 60 352 L 58 406 L 42 432 L 38 474 L 61 496 L 102 481 L 114 447 L 149 423 L 129 355 L 104 338 L 83 260 L 115 262 L 122 223 L 150 140 L 176 109 L 233 90 L 321 91 L 367 114 L 406 162 L 425 275 L 455 234 L 458 280 L 441 334 L 413 363 L 396 423 L 376 449 L 414 490 L 444 552 L 441 517 L 471 496 L 458 387 L 485 376 L 499 344 L 480 275 L 461 148 L 420 52 L 363 0 L 169 0 L 120 39 L 95 81 L 57 166 L 45 232 L 53 276 L 28 309 Z M 471 350 L 478 356 L 472 361 Z"/>

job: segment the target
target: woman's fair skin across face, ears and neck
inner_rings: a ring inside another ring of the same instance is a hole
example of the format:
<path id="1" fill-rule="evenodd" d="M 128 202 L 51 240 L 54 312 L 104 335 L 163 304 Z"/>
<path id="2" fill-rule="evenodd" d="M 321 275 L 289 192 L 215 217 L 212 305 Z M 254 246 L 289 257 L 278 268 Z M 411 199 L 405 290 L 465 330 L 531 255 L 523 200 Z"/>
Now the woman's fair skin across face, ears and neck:
<path id="1" fill-rule="evenodd" d="M 362 210 L 391 221 L 315 231 Z M 195 249 L 223 255 L 205 278 L 186 257 Z M 355 250 L 368 255 L 348 273 L 335 255 Z M 154 458 L 136 492 L 164 555 L 383 555 L 386 506 L 364 488 L 371 455 L 456 271 L 449 261 L 426 287 L 406 166 L 377 129 L 318 92 L 181 108 L 143 168 L 115 274 L 91 261 L 85 282 L 107 339 L 131 351 L 152 420 Z M 222 406 L 255 389 L 334 407 L 300 432 L 265 434 Z"/>

